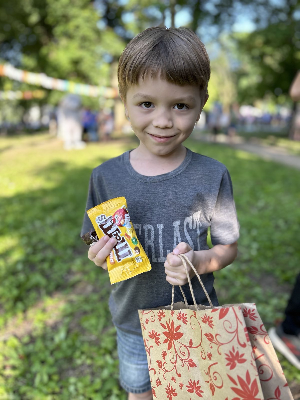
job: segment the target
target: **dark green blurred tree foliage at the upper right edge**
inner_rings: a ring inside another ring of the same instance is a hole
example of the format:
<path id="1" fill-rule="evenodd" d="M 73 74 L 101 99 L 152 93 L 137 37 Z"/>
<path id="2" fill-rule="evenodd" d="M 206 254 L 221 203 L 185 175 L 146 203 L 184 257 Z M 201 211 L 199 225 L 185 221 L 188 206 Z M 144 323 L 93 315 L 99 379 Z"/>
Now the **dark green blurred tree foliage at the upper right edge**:
<path id="1" fill-rule="evenodd" d="M 238 92 L 241 101 L 269 95 L 288 98 L 300 65 L 300 27 L 297 21 L 278 22 L 251 34 L 235 36 L 240 68 Z"/>

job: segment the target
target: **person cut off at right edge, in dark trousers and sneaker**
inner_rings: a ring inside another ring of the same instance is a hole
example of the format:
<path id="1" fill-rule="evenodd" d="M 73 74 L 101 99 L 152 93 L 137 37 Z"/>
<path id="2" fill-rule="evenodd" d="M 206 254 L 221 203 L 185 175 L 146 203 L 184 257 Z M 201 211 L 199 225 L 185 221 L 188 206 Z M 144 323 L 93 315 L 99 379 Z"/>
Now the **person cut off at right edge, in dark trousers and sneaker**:
<path id="1" fill-rule="evenodd" d="M 298 134 L 300 139 L 300 71 L 292 83 L 290 96 L 294 102 L 298 102 L 294 129 L 295 135 Z M 296 284 L 284 314 L 284 321 L 277 328 L 271 328 L 269 336 L 276 350 L 300 370 L 300 274 L 296 278 Z"/>

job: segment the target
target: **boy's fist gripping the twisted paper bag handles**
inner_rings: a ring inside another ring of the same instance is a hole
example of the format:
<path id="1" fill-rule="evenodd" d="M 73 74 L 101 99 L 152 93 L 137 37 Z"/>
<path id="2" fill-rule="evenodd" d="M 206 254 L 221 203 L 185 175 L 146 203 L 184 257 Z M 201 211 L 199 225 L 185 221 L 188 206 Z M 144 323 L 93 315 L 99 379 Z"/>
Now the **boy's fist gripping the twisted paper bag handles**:
<path id="1" fill-rule="evenodd" d="M 180 257 L 178 257 L 178 254 L 185 254 L 190 262 L 195 265 L 195 252 L 194 250 L 192 250 L 189 244 L 181 242 L 176 246 L 176 248 L 174 248 L 172 253 L 169 253 L 167 255 L 167 260 L 164 263 L 167 276 L 166 280 L 174 286 L 183 286 L 188 283 L 188 278 L 186 276 L 186 270 L 184 268 L 182 260 Z M 195 272 L 192 270 L 189 264 L 187 266 L 190 278 L 192 278 L 193 276 L 195 276 Z"/>

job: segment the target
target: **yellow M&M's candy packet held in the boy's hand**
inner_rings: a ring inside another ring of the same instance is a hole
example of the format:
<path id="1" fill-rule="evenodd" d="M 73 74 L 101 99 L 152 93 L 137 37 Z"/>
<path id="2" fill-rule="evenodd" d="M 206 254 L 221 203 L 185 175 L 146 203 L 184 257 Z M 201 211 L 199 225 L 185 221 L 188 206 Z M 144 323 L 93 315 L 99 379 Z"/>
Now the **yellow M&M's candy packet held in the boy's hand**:
<path id="1" fill-rule="evenodd" d="M 87 213 L 99 239 L 107 235 L 118 240 L 107 258 L 111 284 L 151 270 L 131 222 L 125 197 L 108 200 Z"/>

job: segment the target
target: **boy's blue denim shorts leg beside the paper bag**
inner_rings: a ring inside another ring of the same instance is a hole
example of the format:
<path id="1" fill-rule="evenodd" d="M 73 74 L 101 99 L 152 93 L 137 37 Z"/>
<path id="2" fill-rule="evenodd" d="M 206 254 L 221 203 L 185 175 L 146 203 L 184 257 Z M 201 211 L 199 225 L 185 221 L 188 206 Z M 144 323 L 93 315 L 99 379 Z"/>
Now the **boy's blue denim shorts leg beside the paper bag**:
<path id="1" fill-rule="evenodd" d="M 144 339 L 116 329 L 122 388 L 135 394 L 152 390 Z"/>

